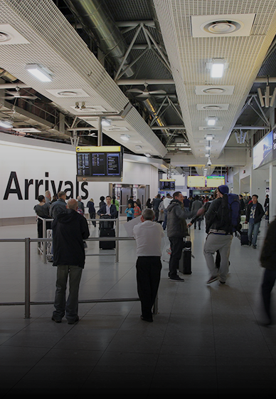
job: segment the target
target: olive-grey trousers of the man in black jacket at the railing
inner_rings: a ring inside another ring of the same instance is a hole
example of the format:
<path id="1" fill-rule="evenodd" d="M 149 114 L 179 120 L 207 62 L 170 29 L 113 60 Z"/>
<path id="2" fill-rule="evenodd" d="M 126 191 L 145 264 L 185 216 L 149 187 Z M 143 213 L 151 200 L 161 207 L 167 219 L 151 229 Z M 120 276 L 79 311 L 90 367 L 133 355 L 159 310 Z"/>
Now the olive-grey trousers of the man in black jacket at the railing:
<path id="1" fill-rule="evenodd" d="M 64 315 L 68 321 L 78 317 L 78 291 L 83 269 L 79 266 L 58 266 L 53 316 L 61 320 Z M 69 277 L 69 295 L 66 301 L 66 286 Z"/>

